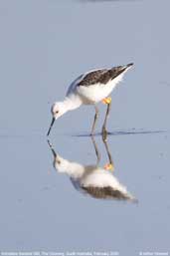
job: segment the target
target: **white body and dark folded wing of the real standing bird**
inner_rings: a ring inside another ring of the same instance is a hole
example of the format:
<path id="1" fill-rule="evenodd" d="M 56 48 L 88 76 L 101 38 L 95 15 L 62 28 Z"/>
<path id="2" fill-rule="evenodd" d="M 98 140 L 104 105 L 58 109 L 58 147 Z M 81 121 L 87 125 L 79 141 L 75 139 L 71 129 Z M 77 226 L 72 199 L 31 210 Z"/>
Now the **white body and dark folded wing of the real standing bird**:
<path id="1" fill-rule="evenodd" d="M 95 104 L 107 97 L 121 81 L 124 73 L 132 64 L 110 69 L 89 71 L 78 77 L 70 86 L 67 96 L 78 94 L 84 104 Z"/>

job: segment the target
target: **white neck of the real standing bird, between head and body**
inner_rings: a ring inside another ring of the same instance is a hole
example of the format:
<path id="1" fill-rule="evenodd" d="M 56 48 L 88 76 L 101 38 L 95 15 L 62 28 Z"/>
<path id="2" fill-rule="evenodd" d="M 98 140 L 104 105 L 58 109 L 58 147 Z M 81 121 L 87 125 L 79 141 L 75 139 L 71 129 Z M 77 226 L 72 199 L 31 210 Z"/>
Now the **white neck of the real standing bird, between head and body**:
<path id="1" fill-rule="evenodd" d="M 83 102 L 81 101 L 79 96 L 73 95 L 70 97 L 66 97 L 63 104 L 65 106 L 66 111 L 69 112 L 69 111 L 73 111 L 75 109 L 80 108 Z"/>

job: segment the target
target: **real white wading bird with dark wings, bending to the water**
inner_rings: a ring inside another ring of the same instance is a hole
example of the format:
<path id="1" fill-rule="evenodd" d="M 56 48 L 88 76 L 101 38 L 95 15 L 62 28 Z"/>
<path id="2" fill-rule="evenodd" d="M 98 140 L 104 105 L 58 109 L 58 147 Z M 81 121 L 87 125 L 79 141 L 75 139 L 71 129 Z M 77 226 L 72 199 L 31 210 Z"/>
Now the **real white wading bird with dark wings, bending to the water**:
<path id="1" fill-rule="evenodd" d="M 98 118 L 97 104 L 102 102 L 107 105 L 104 123 L 102 126 L 102 135 L 106 137 L 106 123 L 110 112 L 111 97 L 110 94 L 115 86 L 122 80 L 124 74 L 133 66 L 133 63 L 127 65 L 116 66 L 109 69 L 97 69 L 88 71 L 79 76 L 69 87 L 66 98 L 63 102 L 54 103 L 51 108 L 52 123 L 47 132 L 50 131 L 60 117 L 69 111 L 76 110 L 82 105 L 94 106 L 95 115 L 93 119 L 90 135 L 94 133 L 96 121 Z"/>

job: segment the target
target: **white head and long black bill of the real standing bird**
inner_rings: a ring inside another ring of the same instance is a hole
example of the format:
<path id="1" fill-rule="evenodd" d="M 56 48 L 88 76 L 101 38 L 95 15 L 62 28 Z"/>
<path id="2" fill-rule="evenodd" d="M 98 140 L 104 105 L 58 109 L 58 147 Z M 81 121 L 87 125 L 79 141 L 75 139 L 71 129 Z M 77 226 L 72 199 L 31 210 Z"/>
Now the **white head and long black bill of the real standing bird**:
<path id="1" fill-rule="evenodd" d="M 56 120 L 58 120 L 60 117 L 62 117 L 66 113 L 66 107 L 64 103 L 55 103 L 52 108 L 51 108 L 51 113 L 52 113 L 52 123 L 51 126 L 48 130 L 47 135 L 50 134 L 51 128 L 53 127 L 54 123 Z"/>

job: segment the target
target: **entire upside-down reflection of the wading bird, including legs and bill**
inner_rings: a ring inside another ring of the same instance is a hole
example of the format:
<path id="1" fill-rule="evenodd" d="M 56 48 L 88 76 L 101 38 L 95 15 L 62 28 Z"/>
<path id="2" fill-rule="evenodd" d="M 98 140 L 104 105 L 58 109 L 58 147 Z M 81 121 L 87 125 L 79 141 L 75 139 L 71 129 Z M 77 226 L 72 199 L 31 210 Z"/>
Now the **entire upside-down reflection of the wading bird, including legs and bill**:
<path id="1" fill-rule="evenodd" d="M 60 173 L 69 175 L 74 187 L 80 192 L 100 199 L 117 199 L 136 202 L 126 187 L 122 185 L 113 175 L 114 165 L 107 141 L 103 141 L 108 157 L 108 163 L 103 167 L 99 166 L 100 153 L 98 151 L 94 137 L 91 137 L 96 154 L 96 163 L 84 165 L 79 162 L 70 161 L 58 154 L 50 140 L 49 146 L 54 156 L 54 167 Z"/>

